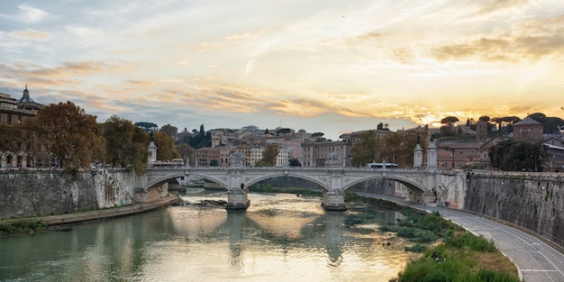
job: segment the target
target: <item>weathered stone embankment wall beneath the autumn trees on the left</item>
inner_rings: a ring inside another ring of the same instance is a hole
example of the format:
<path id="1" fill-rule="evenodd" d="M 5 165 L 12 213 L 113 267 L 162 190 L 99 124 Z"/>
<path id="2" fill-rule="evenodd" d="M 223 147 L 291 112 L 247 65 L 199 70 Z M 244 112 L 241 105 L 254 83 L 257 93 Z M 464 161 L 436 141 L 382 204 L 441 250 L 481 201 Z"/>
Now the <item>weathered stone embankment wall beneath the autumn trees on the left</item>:
<path id="1" fill-rule="evenodd" d="M 133 172 L 126 170 L 75 176 L 58 170 L 5 170 L 0 172 L 0 219 L 132 205 L 133 181 Z"/>

